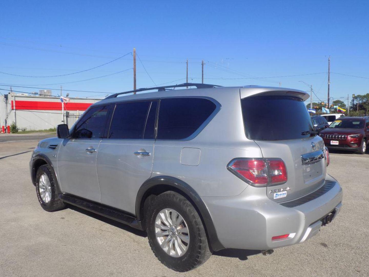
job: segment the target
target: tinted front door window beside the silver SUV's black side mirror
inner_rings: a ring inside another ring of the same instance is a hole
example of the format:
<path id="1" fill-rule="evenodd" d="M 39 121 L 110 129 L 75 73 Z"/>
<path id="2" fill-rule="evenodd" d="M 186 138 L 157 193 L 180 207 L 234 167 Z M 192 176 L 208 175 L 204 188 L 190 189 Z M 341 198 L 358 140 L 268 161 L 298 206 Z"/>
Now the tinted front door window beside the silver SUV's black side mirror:
<path id="1" fill-rule="evenodd" d="M 101 138 L 106 127 L 110 105 L 92 107 L 77 122 L 73 138 Z"/>

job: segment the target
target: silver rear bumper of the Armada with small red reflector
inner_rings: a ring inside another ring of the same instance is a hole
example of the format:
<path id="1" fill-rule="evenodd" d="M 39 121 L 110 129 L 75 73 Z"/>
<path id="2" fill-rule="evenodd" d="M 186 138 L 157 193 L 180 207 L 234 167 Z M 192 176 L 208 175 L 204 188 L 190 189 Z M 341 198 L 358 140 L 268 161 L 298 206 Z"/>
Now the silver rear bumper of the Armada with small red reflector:
<path id="1" fill-rule="evenodd" d="M 333 219 L 341 209 L 342 188 L 334 186 L 325 194 L 302 205 L 288 208 L 263 195 L 249 196 L 245 189 L 238 196 L 203 197 L 210 211 L 220 242 L 226 248 L 267 250 L 304 242 L 316 235 L 327 215 Z M 254 189 L 254 188 L 251 188 Z M 273 236 L 290 234 L 272 241 Z"/>

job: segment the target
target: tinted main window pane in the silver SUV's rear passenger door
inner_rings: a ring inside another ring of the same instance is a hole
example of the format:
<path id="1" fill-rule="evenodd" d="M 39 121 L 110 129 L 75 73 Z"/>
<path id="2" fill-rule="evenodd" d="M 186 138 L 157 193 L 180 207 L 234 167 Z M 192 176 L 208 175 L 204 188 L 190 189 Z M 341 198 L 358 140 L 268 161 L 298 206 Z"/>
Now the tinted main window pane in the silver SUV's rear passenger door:
<path id="1" fill-rule="evenodd" d="M 142 138 L 150 104 L 151 101 L 117 104 L 108 138 Z"/>

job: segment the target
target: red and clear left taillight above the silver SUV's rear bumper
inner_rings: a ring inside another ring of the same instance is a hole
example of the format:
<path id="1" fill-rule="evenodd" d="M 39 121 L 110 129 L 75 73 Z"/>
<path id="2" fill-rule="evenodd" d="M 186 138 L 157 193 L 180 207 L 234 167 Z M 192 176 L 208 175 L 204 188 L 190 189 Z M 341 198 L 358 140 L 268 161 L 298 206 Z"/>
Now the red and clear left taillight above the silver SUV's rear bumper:
<path id="1" fill-rule="evenodd" d="M 282 184 L 287 181 L 286 165 L 281 159 L 236 158 L 227 169 L 255 187 Z"/>

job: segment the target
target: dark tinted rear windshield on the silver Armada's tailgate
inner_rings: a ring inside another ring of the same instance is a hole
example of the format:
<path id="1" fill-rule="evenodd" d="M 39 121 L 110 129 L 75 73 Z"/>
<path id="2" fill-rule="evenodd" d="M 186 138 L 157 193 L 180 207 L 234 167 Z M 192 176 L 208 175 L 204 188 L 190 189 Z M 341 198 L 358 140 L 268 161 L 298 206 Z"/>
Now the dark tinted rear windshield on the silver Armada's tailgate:
<path id="1" fill-rule="evenodd" d="M 291 96 L 255 96 L 241 99 L 246 137 L 251 140 L 305 138 L 313 123 L 302 99 Z"/>

